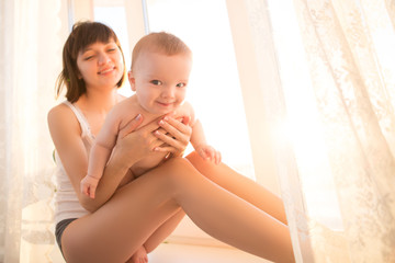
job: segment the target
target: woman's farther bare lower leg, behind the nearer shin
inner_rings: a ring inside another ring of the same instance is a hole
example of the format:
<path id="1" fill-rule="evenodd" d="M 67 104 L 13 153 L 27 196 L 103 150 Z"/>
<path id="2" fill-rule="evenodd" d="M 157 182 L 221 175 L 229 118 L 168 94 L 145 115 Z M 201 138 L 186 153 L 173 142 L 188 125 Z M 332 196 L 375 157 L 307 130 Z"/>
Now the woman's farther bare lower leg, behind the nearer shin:
<path id="1" fill-rule="evenodd" d="M 203 160 L 195 151 L 190 153 L 187 159 L 199 172 L 221 187 L 249 202 L 281 222 L 287 224 L 282 199 L 262 185 L 237 173 L 224 163 L 214 164 Z"/>

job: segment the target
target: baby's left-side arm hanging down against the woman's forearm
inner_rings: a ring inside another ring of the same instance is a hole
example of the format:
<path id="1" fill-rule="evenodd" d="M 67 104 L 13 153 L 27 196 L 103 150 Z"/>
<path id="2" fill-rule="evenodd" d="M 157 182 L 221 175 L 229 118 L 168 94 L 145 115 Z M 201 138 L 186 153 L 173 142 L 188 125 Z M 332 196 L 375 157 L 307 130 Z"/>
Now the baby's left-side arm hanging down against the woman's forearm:
<path id="1" fill-rule="evenodd" d="M 115 146 L 119 127 L 120 117 L 115 111 L 112 111 L 105 118 L 104 125 L 90 150 L 88 173 L 81 181 L 81 191 L 91 198 L 94 198 L 99 180 L 103 175 L 104 167 Z"/>

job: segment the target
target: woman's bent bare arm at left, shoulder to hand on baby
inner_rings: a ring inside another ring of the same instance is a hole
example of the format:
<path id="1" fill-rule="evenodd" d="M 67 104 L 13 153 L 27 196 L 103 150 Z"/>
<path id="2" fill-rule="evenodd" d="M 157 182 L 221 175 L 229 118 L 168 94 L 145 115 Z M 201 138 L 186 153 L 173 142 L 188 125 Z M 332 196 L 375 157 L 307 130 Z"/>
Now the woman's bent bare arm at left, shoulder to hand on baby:
<path id="1" fill-rule="evenodd" d="M 134 118 L 125 128 L 133 132 L 142 122 L 143 117 L 139 116 L 139 118 Z M 155 125 L 156 127 L 150 128 L 158 127 L 157 124 Z M 88 155 L 81 139 L 80 125 L 72 111 L 64 104 L 50 110 L 48 113 L 48 127 L 56 151 L 60 157 L 76 195 L 82 207 L 89 211 L 97 210 L 113 195 L 128 168 L 148 151 L 140 150 L 142 145 L 145 146 L 146 144 L 146 138 L 149 138 L 148 135 L 142 138 L 143 134 L 150 133 L 147 129 L 142 130 L 139 134 L 132 133 L 133 136 L 129 136 L 128 140 L 125 141 L 128 144 L 121 144 L 121 147 L 116 146 L 113 158 L 110 159 L 101 183 L 97 188 L 95 198 L 92 199 L 80 191 L 80 182 L 88 171 Z M 138 136 L 140 138 L 137 138 Z M 150 137 L 155 138 L 154 136 Z M 156 138 L 155 140 L 157 142 L 155 146 L 159 145 L 160 141 Z M 125 158 L 123 155 L 128 155 L 128 157 Z"/>

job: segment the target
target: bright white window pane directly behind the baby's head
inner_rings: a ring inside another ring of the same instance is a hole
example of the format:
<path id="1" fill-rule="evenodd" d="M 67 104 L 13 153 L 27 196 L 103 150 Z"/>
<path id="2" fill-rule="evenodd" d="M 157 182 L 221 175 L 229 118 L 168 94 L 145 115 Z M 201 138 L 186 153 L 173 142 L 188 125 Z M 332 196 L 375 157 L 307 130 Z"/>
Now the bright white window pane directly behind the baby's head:
<path id="1" fill-rule="evenodd" d="M 147 0 L 149 30 L 179 36 L 193 52 L 187 99 L 224 162 L 253 175 L 247 122 L 225 0 Z"/>

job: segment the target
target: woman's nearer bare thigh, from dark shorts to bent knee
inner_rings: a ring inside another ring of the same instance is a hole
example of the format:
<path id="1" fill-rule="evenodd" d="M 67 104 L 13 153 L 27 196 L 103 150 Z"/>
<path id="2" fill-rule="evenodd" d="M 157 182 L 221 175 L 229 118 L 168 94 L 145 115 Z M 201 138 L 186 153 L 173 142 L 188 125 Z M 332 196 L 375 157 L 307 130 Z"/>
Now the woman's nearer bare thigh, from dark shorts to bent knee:
<path id="1" fill-rule="evenodd" d="M 170 164 L 170 163 L 169 163 Z M 168 169 L 167 169 L 168 168 Z M 172 198 L 163 164 L 120 188 L 95 213 L 71 222 L 61 237 L 68 263 L 124 263 L 180 206 Z"/>

